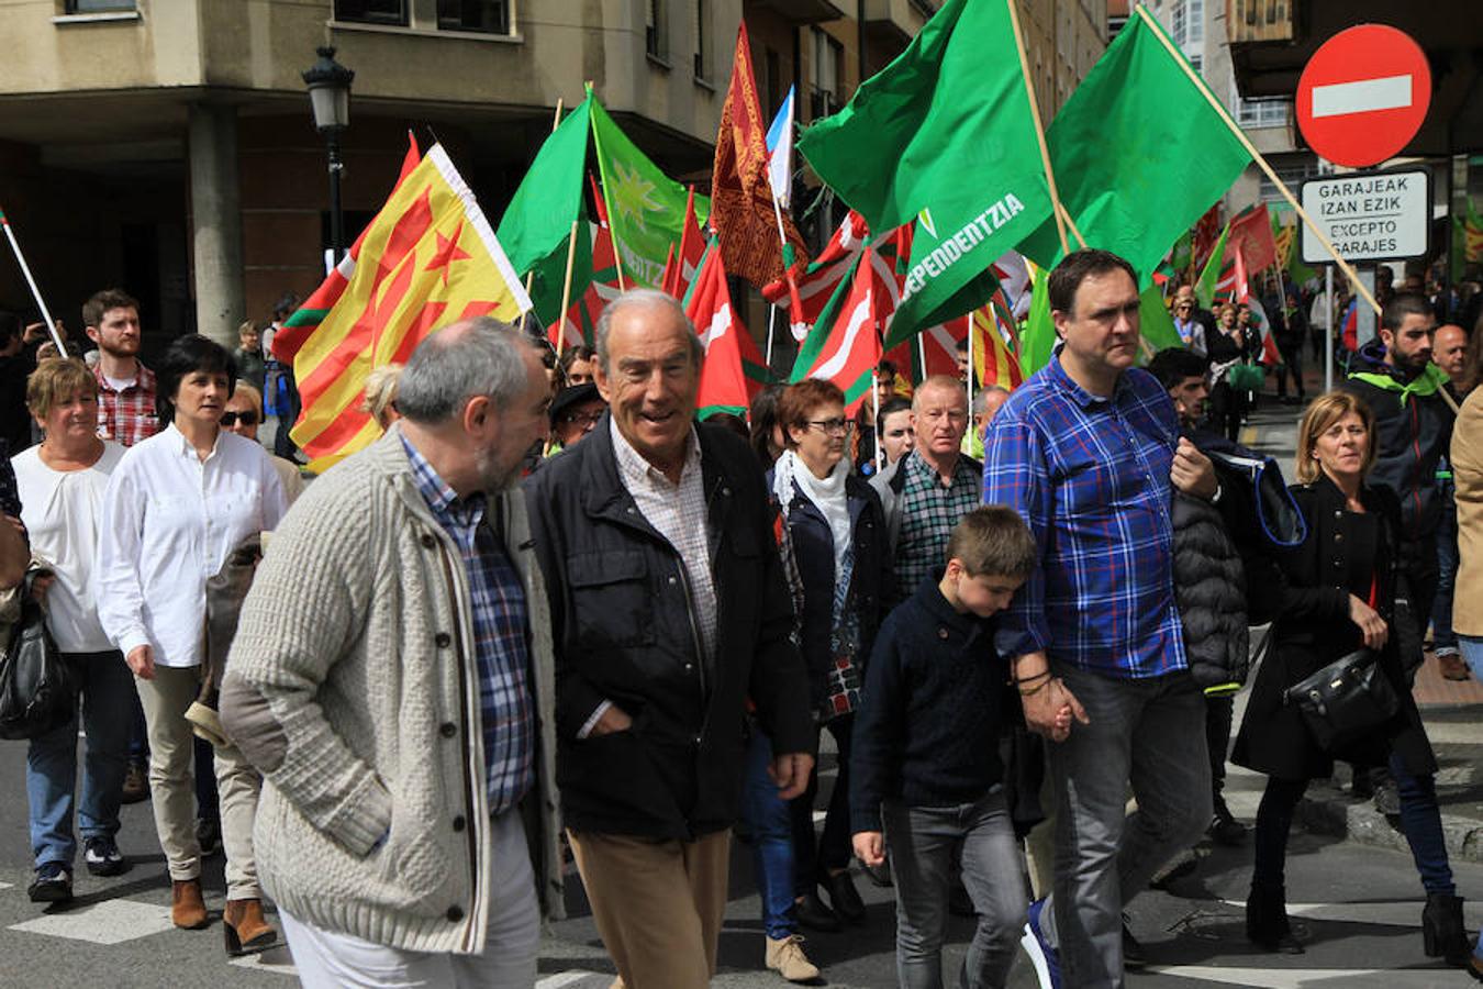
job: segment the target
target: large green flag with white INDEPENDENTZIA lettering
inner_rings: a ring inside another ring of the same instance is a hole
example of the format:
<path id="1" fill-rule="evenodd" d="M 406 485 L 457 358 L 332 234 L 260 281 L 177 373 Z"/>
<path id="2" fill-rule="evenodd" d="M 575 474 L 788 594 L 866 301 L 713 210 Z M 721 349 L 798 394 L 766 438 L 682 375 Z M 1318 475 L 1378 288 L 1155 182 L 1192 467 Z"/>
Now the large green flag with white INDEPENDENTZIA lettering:
<path id="1" fill-rule="evenodd" d="M 989 265 L 1051 215 L 1007 0 L 948 0 L 799 153 L 872 231 L 916 221 L 891 348 L 988 301 Z"/>

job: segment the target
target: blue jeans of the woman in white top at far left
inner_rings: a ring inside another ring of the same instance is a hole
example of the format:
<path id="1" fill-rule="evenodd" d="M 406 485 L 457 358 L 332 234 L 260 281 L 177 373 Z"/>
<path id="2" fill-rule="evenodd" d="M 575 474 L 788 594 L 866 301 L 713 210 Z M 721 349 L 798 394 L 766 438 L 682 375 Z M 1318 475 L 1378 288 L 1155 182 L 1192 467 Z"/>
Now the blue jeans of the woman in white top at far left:
<path id="1" fill-rule="evenodd" d="M 82 799 L 77 801 L 77 718 L 31 738 L 25 752 L 25 796 L 31 807 L 36 866 L 77 854 L 73 807 L 83 839 L 119 833 L 119 798 L 129 762 L 133 675 L 120 652 L 67 652 L 82 682 L 82 724 L 87 732 Z"/>

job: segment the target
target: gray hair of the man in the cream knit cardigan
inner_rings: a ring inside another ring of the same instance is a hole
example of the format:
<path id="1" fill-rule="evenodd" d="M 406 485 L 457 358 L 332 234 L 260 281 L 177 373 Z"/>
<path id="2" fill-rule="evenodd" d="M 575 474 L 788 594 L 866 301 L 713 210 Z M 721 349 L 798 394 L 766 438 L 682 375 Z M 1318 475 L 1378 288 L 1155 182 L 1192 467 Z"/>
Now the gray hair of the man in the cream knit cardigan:
<path id="1" fill-rule="evenodd" d="M 497 319 L 454 323 L 417 344 L 396 383 L 396 408 L 423 426 L 446 423 L 478 396 L 503 411 L 529 387 L 528 348 L 523 337 Z"/>

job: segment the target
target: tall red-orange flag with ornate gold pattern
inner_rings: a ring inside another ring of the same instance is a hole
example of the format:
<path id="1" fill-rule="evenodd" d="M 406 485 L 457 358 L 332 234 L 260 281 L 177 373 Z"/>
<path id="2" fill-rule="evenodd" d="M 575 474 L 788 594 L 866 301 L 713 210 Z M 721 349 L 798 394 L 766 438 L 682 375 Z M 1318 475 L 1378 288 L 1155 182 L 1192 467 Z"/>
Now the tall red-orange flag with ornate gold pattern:
<path id="1" fill-rule="evenodd" d="M 710 225 L 721 239 L 727 271 L 762 288 L 783 277 L 783 242 L 793 245 L 805 262 L 804 239 L 792 216 L 773 203 L 767 169 L 767 126 L 752 76 L 752 46 L 746 22 L 737 28 L 737 50 L 731 64 L 731 86 L 721 107 L 716 160 L 710 176 Z"/>

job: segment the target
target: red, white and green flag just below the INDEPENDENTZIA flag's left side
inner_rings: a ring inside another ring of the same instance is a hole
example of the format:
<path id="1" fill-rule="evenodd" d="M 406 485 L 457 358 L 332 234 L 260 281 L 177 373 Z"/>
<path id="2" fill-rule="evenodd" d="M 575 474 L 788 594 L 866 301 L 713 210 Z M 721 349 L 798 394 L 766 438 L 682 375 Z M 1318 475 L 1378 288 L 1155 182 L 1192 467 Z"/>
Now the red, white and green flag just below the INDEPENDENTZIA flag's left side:
<path id="1" fill-rule="evenodd" d="M 841 282 L 825 305 L 804 345 L 798 350 L 790 381 L 823 378 L 844 391 L 844 414 L 853 417 L 871 396 L 875 365 L 881 362 L 881 337 L 876 313 L 875 277 L 865 249 L 854 273 Z"/>

